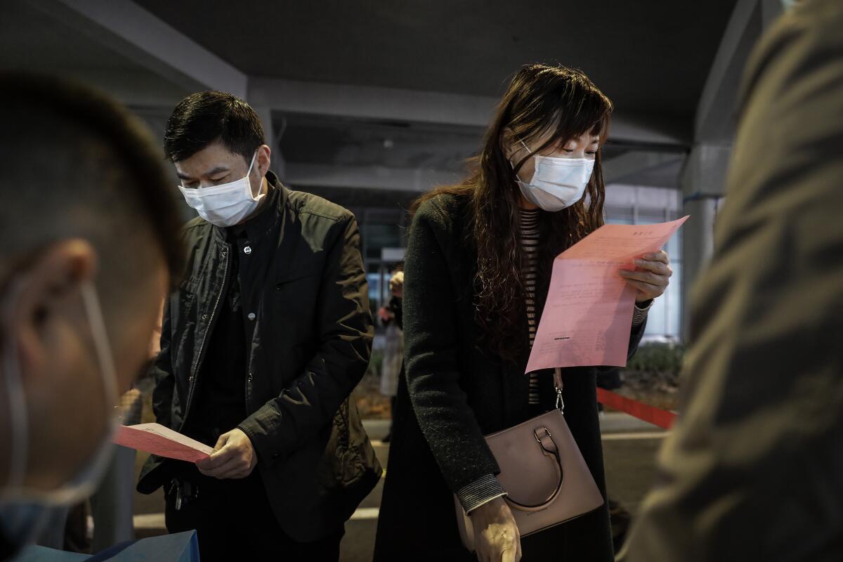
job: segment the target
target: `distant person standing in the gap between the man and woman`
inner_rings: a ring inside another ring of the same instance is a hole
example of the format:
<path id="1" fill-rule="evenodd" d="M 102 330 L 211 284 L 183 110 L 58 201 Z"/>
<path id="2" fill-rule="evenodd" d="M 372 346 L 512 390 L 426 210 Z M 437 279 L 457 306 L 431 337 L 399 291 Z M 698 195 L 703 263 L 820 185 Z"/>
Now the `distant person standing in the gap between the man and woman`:
<path id="1" fill-rule="evenodd" d="M 380 369 L 380 393 L 389 396 L 389 412 L 395 420 L 395 394 L 398 393 L 398 379 L 404 370 L 404 307 L 401 298 L 404 293 L 404 265 L 399 264 L 389 277 L 389 302 L 379 310 L 381 322 L 386 326 L 384 335 L 384 361 Z M 392 440 L 392 424 L 384 443 Z"/>

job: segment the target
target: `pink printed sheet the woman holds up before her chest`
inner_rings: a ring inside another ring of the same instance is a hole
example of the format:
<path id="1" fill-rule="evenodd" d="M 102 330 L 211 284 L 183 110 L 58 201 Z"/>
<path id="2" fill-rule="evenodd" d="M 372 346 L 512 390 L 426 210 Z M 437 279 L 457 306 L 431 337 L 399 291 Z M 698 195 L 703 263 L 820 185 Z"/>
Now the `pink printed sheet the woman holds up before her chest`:
<path id="1" fill-rule="evenodd" d="M 626 366 L 636 289 L 618 270 L 657 252 L 688 217 L 659 224 L 607 224 L 556 257 L 527 372 Z"/>

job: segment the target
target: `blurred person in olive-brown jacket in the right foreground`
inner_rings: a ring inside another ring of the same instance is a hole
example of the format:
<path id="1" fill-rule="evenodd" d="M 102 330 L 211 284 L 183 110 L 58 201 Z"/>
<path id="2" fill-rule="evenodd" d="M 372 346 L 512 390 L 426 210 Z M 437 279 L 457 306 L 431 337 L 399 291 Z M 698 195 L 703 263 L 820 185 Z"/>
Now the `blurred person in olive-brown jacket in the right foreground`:
<path id="1" fill-rule="evenodd" d="M 776 22 L 743 89 L 633 562 L 843 559 L 843 3 Z"/>

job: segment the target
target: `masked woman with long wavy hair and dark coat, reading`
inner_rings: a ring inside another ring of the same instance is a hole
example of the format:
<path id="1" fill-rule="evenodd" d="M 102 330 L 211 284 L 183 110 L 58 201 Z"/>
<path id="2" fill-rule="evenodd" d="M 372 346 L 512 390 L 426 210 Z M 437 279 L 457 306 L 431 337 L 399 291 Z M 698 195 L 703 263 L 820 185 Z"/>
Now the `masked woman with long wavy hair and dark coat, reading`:
<path id="1" fill-rule="evenodd" d="M 484 435 L 554 407 L 552 371 L 524 375 L 556 255 L 603 224 L 600 148 L 612 104 L 580 71 L 521 69 L 475 171 L 414 206 L 400 381 L 377 561 L 614 559 L 606 506 L 519 538 Z M 620 275 L 638 289 L 630 354 L 668 285 L 664 252 Z M 565 417 L 605 496 L 595 378 L 562 369 Z M 525 475 L 529 478 L 529 475 Z M 476 554 L 460 543 L 454 494 Z"/>

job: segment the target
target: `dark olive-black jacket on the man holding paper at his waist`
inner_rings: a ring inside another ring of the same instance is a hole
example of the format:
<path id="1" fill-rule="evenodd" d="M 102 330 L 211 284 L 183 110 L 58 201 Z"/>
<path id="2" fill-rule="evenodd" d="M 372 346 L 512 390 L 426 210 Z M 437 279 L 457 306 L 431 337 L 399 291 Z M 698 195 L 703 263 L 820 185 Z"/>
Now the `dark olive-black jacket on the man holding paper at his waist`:
<path id="1" fill-rule="evenodd" d="M 274 209 L 266 228 L 277 236 L 253 244 L 250 259 L 260 262 L 255 279 L 245 280 L 257 287 L 259 305 L 239 428 L 255 447 L 280 526 L 309 542 L 336 533 L 381 474 L 348 398 L 368 366 L 373 323 L 352 213 L 287 190 L 274 174 L 267 179 Z M 198 218 L 185 242 L 186 275 L 164 306 L 153 365 L 153 409 L 175 431 L 191 415 L 228 253 L 238 251 L 221 228 Z M 179 462 L 149 458 L 137 490 L 157 490 Z"/>

